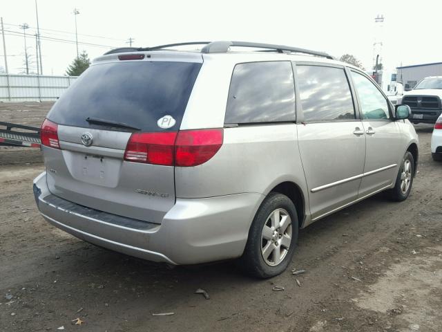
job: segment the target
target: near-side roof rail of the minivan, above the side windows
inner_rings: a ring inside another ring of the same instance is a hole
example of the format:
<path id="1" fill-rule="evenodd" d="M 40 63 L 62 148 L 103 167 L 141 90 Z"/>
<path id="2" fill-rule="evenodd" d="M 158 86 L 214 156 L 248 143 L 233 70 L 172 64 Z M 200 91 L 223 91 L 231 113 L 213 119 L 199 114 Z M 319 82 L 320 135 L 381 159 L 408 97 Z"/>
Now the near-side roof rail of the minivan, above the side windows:
<path id="1" fill-rule="evenodd" d="M 309 55 L 316 55 L 317 57 L 326 57 L 327 59 L 334 59 L 332 55 L 327 53 L 318 52 L 316 50 L 307 50 L 305 48 L 274 45 L 274 44 L 262 44 L 252 42 L 212 42 L 202 48 L 201 53 L 226 53 L 231 46 L 238 47 L 250 47 L 250 48 L 267 48 L 268 50 L 276 50 L 278 53 L 304 53 Z"/>

